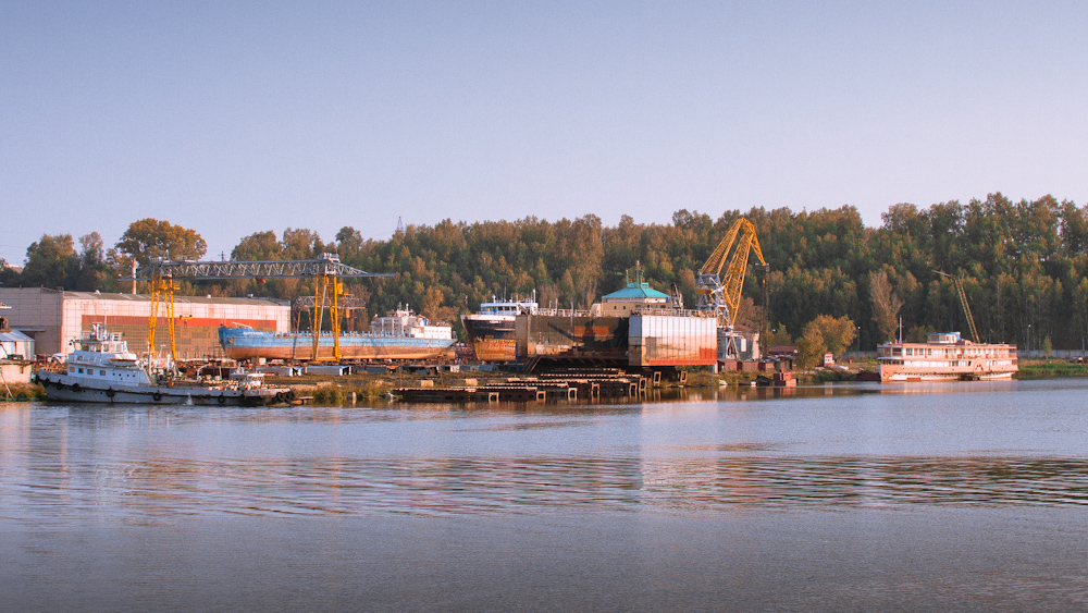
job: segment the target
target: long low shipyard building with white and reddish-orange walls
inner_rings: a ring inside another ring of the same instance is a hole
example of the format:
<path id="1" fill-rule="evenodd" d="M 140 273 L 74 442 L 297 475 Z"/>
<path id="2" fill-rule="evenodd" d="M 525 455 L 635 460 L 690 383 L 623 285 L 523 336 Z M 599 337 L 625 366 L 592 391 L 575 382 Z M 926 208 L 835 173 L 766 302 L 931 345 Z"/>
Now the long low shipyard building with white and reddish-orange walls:
<path id="1" fill-rule="evenodd" d="M 71 341 L 82 338 L 94 323 L 121 332 L 129 350 L 148 348 L 151 297 L 146 294 L 65 292 L 45 287 L 0 287 L 0 302 L 12 329 L 35 341 L 38 354 L 69 354 Z M 224 357 L 219 344 L 220 326 L 249 326 L 255 330 L 287 332 L 290 305 L 269 298 L 174 296 L 175 346 L 178 359 Z M 159 305 L 156 351 L 170 351 L 165 308 Z"/>

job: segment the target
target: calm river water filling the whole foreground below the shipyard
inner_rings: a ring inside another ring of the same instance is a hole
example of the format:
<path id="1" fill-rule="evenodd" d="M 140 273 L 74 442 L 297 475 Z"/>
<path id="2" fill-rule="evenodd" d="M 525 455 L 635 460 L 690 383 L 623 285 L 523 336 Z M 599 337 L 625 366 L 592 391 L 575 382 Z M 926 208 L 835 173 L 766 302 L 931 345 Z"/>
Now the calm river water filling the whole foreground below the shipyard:
<path id="1" fill-rule="evenodd" d="M 1084 609 L 1086 392 L 7 403 L 0 610 Z"/>

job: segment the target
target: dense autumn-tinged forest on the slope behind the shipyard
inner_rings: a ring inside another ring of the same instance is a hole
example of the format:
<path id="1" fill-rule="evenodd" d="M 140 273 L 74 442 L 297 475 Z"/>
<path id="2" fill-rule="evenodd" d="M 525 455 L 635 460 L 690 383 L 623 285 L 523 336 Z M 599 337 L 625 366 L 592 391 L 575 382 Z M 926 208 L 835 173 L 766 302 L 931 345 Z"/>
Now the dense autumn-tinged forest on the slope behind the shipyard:
<path id="1" fill-rule="evenodd" d="M 369 316 L 407 304 L 459 328 L 458 315 L 492 296 L 528 296 L 542 305 L 585 308 L 642 270 L 651 286 L 672 284 L 695 305 L 695 274 L 739 217 L 756 229 L 767 267 L 750 258 L 739 322 L 765 341 L 789 344 L 820 316 L 849 317 L 858 347 L 873 350 L 900 334 L 967 326 L 951 278 L 963 279 L 982 341 L 1023 348 L 1084 348 L 1088 338 L 1088 209 L 1052 196 L 1012 201 L 1000 193 L 967 204 L 928 208 L 899 204 L 866 228 L 851 206 L 794 212 L 789 208 L 725 211 L 712 217 L 682 209 L 670 224 L 641 224 L 623 216 L 605 226 L 593 214 L 546 221 L 408 225 L 388 240 L 364 240 L 344 226 L 325 243 L 317 232 L 269 230 L 242 237 L 232 259 L 307 259 L 322 253 L 383 280 L 348 282 Z M 97 232 L 77 241 L 44 235 L 26 252 L 22 271 L 0 267 L 0 285 L 128 292 L 132 266 L 152 257 L 201 258 L 195 230 L 143 219 L 107 247 Z M 2 263 L 2 260 L 0 260 Z M 294 299 L 312 292 L 307 280 L 182 284 L 182 293 Z M 144 290 L 140 290 L 144 291 Z M 305 323 L 305 319 L 302 320 Z"/>

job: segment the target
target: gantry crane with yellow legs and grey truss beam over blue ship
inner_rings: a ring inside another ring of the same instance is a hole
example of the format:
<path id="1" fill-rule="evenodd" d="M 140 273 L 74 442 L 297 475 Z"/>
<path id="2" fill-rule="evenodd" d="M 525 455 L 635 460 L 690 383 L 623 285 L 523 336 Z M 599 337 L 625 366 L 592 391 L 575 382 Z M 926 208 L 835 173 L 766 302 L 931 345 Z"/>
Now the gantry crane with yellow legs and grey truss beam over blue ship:
<path id="1" fill-rule="evenodd" d="M 228 281 L 233 279 L 296 279 L 313 278 L 314 318 L 312 359 L 318 359 L 318 339 L 325 305 L 330 308 L 333 334 L 333 359 L 341 358 L 339 351 L 339 296 L 344 293 L 341 279 L 372 279 L 394 277 L 388 273 L 373 273 L 341 263 L 336 254 L 322 254 L 320 258 L 308 260 L 254 260 L 254 261 L 169 261 L 156 258 L 145 267 L 134 280 L 151 283 L 151 315 L 148 320 L 148 346 L 154 350 L 154 331 L 159 319 L 159 305 L 166 309 L 170 330 L 170 358 L 176 364 L 177 352 L 174 336 L 174 285 L 175 279 L 189 281 Z"/>

